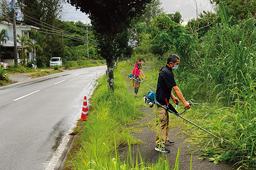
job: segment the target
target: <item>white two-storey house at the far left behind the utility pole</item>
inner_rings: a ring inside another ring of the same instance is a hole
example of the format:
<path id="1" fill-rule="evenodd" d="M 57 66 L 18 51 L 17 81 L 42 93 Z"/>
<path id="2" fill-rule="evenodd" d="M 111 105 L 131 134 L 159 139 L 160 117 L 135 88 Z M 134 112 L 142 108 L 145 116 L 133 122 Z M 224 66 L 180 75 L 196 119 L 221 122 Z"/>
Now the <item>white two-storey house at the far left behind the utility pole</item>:
<path id="1" fill-rule="evenodd" d="M 1 44 L 4 47 L 4 54 L 1 55 L 1 58 L 4 60 L 5 63 L 8 63 L 9 65 L 14 65 L 14 40 L 13 40 L 13 24 L 1 21 L 0 22 L 0 31 L 2 29 L 7 30 L 6 34 L 9 37 L 9 40 L 6 41 L 6 43 Z M 31 30 L 39 30 L 38 27 L 35 26 L 28 26 L 28 25 L 17 25 L 16 26 L 16 35 L 26 35 L 29 37 L 29 32 Z M 18 37 L 17 37 L 18 39 Z M 20 51 L 21 51 L 21 44 L 17 42 L 17 49 L 18 49 L 18 63 L 20 63 Z M 25 49 L 25 52 L 27 52 L 27 47 L 23 47 Z M 30 60 L 32 60 L 32 52 L 29 52 Z"/>

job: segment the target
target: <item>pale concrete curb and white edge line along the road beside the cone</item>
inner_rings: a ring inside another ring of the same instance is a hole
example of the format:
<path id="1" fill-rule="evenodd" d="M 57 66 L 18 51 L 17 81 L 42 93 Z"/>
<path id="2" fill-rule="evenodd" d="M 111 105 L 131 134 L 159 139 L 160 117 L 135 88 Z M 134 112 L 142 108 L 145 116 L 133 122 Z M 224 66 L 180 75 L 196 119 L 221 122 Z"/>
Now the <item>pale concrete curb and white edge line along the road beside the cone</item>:
<path id="1" fill-rule="evenodd" d="M 92 91 L 90 92 L 88 99 L 92 96 L 96 85 L 93 87 Z M 90 100 L 87 100 L 88 107 L 90 106 Z M 69 135 L 73 132 L 73 129 L 76 127 L 76 123 L 79 120 L 82 113 L 82 108 L 79 111 L 79 115 L 75 118 L 74 122 L 72 123 L 71 127 L 68 129 L 68 132 L 65 134 L 63 140 L 61 141 L 59 147 L 57 148 L 56 152 L 53 154 L 52 159 L 49 161 L 48 166 L 45 170 L 62 170 L 64 169 L 64 163 L 68 158 L 68 151 L 74 145 L 73 139 L 75 136 Z"/>

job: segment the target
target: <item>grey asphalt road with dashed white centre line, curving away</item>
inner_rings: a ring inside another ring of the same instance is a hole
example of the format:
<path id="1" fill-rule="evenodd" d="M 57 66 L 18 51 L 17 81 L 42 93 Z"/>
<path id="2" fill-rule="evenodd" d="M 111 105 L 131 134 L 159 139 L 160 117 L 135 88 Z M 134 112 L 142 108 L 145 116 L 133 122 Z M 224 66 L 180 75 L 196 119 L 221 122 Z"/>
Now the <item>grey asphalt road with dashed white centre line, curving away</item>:
<path id="1" fill-rule="evenodd" d="M 44 170 L 106 66 L 0 87 L 0 170 Z"/>

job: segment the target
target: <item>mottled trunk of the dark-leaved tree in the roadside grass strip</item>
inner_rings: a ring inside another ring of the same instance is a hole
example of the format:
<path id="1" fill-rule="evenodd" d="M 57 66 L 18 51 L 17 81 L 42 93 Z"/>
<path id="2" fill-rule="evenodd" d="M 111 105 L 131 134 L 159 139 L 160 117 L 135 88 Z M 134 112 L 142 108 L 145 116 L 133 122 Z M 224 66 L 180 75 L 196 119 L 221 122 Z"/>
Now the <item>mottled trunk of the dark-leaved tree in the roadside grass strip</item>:
<path id="1" fill-rule="evenodd" d="M 115 62 L 113 58 L 106 59 L 107 62 L 107 84 L 108 84 L 108 90 L 109 92 L 114 92 L 114 65 Z"/>

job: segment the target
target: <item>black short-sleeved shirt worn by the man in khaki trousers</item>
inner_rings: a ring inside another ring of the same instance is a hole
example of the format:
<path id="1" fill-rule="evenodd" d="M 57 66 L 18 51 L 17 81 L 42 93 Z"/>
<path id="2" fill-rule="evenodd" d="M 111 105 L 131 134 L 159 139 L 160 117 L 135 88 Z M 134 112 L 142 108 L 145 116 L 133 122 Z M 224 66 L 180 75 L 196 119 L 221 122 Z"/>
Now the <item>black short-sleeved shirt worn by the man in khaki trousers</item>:
<path id="1" fill-rule="evenodd" d="M 169 103 L 172 88 L 176 85 L 174 80 L 173 71 L 169 66 L 164 66 L 159 72 L 158 75 L 158 82 L 157 82 L 157 101 L 165 105 L 167 104 L 166 101 Z"/>

